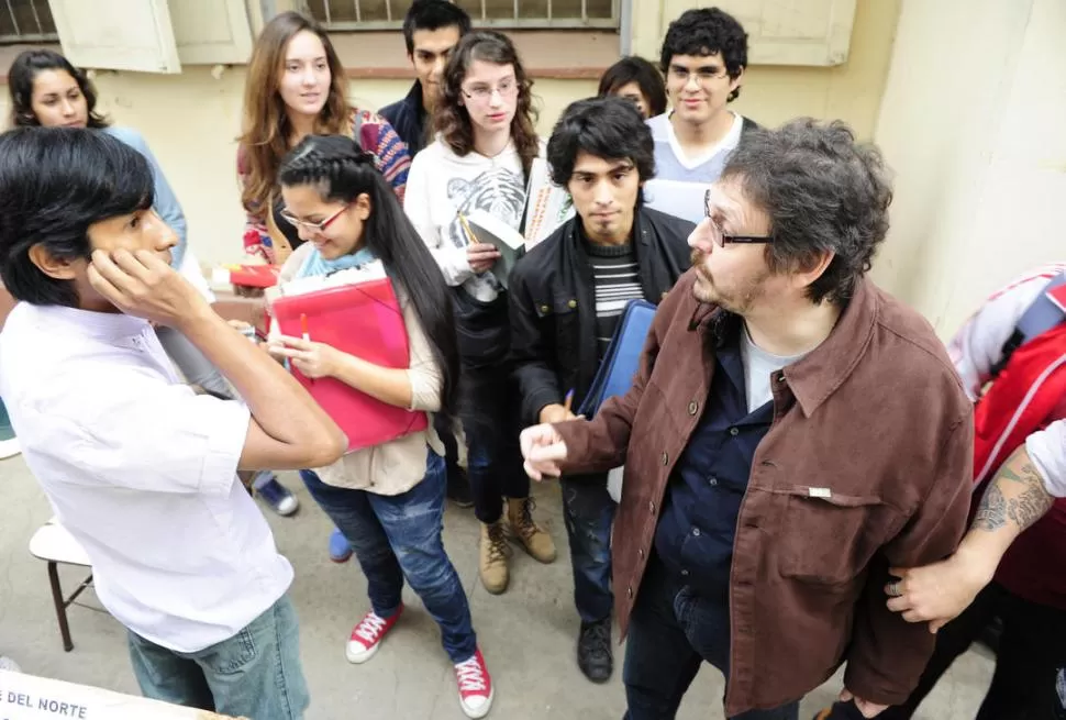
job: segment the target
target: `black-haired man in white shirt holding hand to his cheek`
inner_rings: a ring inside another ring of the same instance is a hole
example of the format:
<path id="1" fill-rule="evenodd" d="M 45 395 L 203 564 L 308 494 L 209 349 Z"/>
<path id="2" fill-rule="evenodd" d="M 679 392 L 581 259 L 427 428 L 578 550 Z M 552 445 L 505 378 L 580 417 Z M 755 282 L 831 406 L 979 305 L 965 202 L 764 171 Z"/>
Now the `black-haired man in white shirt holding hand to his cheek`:
<path id="1" fill-rule="evenodd" d="M 320 467 L 347 445 L 285 369 L 170 268 L 144 157 L 92 130 L 0 135 L 0 395 L 31 472 L 85 547 L 152 698 L 301 718 L 292 567 L 236 470 Z M 196 395 L 149 321 L 245 402 Z M 235 678 L 240 682 L 235 682 Z"/>

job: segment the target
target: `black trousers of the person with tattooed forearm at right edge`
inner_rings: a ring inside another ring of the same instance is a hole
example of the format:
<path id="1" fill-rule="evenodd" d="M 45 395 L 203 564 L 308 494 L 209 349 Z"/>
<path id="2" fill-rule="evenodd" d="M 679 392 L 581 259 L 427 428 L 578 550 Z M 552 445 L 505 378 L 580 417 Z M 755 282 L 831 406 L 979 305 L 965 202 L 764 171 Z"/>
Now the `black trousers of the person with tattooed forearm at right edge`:
<path id="1" fill-rule="evenodd" d="M 976 720 L 1066 719 L 1066 611 L 1023 600 L 992 583 L 960 616 L 940 629 L 936 650 L 911 697 L 879 715 L 878 720 L 913 716 L 955 658 L 997 614 L 1003 632 L 996 672 Z"/>

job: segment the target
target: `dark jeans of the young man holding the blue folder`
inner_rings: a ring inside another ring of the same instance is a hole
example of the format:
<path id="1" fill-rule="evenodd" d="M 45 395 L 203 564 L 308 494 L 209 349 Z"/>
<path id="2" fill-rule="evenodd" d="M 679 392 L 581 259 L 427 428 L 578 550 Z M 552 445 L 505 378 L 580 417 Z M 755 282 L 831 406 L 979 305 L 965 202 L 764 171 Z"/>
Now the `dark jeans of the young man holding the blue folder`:
<path id="1" fill-rule="evenodd" d="M 564 478 L 563 517 L 570 541 L 574 605 L 582 622 L 611 616 L 611 525 L 614 500 L 607 491 L 607 475 Z"/>

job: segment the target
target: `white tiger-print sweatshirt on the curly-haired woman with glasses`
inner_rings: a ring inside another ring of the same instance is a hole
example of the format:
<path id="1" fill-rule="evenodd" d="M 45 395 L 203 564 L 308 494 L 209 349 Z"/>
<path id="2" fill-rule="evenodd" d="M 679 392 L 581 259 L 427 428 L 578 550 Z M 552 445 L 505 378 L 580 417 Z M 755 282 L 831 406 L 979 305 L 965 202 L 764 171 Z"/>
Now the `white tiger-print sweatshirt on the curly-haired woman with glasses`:
<path id="1" fill-rule="evenodd" d="M 543 153 L 543 147 L 542 147 Z M 458 213 L 482 210 L 518 230 L 525 211 L 525 175 L 513 143 L 487 157 L 458 156 L 440 140 L 414 156 L 403 195 L 403 211 L 429 246 L 444 279 L 484 302 L 496 299 L 492 273 L 476 275 L 466 259 L 466 235 Z"/>

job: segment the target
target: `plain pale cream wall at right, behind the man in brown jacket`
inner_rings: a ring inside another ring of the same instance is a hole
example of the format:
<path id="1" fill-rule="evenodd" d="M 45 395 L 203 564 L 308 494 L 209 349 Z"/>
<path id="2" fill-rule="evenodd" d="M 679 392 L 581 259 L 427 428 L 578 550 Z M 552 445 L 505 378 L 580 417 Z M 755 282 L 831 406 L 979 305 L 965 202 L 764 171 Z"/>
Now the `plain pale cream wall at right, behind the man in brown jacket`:
<path id="1" fill-rule="evenodd" d="M 1066 259 L 1063 37 L 1059 0 L 903 2 L 876 132 L 897 195 L 875 278 L 944 337 L 1017 274 Z"/>

